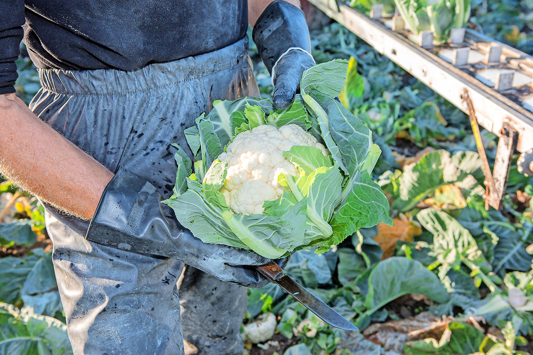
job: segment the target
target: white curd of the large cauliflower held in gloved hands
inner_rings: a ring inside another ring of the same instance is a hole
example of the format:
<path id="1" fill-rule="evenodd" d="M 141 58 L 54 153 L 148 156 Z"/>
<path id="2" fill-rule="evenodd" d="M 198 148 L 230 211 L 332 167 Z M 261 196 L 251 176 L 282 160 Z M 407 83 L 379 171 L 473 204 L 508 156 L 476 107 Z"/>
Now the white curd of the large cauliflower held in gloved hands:
<path id="1" fill-rule="evenodd" d="M 316 147 L 328 155 L 324 145 L 298 125 L 261 125 L 233 139 L 218 158 L 228 163 L 222 193 L 233 212 L 262 214 L 263 202 L 281 196 L 278 176 L 297 175 L 296 167 L 283 155 L 295 145 Z"/>

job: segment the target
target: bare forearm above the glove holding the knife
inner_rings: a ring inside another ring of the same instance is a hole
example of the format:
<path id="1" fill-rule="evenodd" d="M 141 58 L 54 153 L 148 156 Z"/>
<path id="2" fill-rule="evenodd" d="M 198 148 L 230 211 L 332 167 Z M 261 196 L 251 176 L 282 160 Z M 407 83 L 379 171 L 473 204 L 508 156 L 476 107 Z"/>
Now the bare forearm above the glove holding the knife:
<path id="1" fill-rule="evenodd" d="M 113 174 L 41 121 L 15 94 L 0 95 L 0 172 L 42 200 L 91 219 Z"/>

